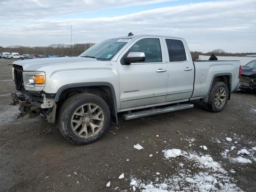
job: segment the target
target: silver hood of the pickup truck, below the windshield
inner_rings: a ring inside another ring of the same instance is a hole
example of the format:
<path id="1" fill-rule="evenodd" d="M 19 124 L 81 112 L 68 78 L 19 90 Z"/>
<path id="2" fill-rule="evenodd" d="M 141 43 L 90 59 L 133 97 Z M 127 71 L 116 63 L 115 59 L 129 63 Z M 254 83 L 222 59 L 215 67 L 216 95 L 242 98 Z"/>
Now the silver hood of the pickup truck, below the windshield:
<path id="1" fill-rule="evenodd" d="M 29 60 L 19 60 L 13 62 L 13 64 L 20 65 L 23 67 L 24 71 L 36 71 L 46 66 L 54 65 L 65 65 L 65 64 L 75 64 L 79 62 L 95 62 L 94 58 L 85 57 L 57 57 L 57 58 L 36 58 Z"/>

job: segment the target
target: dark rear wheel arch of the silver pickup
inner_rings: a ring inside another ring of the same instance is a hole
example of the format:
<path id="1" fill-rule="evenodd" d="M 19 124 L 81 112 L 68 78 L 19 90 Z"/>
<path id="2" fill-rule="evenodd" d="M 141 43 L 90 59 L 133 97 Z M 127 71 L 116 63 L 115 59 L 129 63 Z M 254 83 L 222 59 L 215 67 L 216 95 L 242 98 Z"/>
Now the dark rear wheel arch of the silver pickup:
<path id="1" fill-rule="evenodd" d="M 214 76 L 212 77 L 212 81 L 211 81 L 209 90 L 208 90 L 206 96 L 202 99 L 203 102 L 208 101 L 208 96 L 209 96 L 210 90 L 212 89 L 212 84 L 215 81 L 220 81 L 220 82 L 226 83 L 226 85 L 228 86 L 228 92 L 229 92 L 228 100 L 230 100 L 231 88 L 232 88 L 232 73 L 218 73 L 218 74 L 214 74 Z"/>

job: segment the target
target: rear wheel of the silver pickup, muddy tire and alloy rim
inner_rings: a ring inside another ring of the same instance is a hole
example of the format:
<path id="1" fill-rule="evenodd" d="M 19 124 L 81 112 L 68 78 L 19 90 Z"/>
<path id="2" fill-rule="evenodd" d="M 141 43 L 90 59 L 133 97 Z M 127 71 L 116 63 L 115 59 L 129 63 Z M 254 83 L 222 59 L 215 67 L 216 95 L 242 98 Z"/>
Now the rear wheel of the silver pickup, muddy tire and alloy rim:
<path id="1" fill-rule="evenodd" d="M 228 96 L 228 86 L 224 82 L 213 82 L 207 102 L 208 110 L 222 111 L 228 103 Z"/>

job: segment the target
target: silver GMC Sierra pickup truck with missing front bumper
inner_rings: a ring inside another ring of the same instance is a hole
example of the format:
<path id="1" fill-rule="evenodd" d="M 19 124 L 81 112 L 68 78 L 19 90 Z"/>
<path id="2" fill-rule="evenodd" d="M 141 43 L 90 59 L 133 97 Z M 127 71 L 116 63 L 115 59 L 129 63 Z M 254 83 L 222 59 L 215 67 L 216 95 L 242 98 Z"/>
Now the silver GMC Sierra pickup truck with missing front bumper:
<path id="1" fill-rule="evenodd" d="M 72 143 L 100 138 L 126 120 L 192 108 L 222 111 L 240 86 L 239 61 L 193 61 L 182 38 L 138 35 L 100 42 L 78 57 L 13 63 L 20 115 L 44 114 Z M 143 120 L 142 120 L 143 121 Z"/>

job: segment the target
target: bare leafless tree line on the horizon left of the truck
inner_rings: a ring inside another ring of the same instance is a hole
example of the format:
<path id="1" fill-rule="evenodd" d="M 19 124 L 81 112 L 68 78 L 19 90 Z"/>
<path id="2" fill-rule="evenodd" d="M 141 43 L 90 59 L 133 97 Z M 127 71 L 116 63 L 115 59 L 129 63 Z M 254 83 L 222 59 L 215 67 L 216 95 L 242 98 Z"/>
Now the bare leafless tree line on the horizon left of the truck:
<path id="1" fill-rule="evenodd" d="M 18 52 L 19 54 L 35 54 L 35 55 L 65 55 L 65 56 L 78 56 L 95 43 L 76 43 L 72 46 L 67 44 L 51 44 L 49 46 L 8 46 L 0 47 L 0 52 Z"/>

